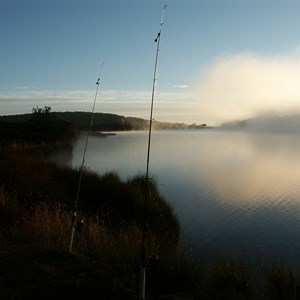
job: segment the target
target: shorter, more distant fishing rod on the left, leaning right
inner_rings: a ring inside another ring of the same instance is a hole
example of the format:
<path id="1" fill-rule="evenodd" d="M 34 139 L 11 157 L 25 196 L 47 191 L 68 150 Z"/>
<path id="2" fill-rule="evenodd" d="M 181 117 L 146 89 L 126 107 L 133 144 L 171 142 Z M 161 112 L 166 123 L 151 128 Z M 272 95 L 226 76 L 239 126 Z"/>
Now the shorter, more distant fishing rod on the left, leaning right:
<path id="1" fill-rule="evenodd" d="M 79 195 L 80 195 L 83 169 L 84 169 L 84 164 L 85 164 L 85 155 L 86 155 L 86 150 L 87 150 L 87 146 L 88 146 L 88 142 L 89 142 L 89 136 L 90 136 L 91 131 L 92 131 L 93 126 L 94 126 L 94 118 L 95 118 L 94 112 L 95 112 L 95 106 L 96 106 L 96 100 L 97 100 L 97 96 L 98 96 L 100 81 L 102 79 L 103 66 L 104 66 L 104 62 L 102 62 L 101 69 L 100 69 L 100 74 L 99 74 L 98 80 L 96 82 L 97 87 L 96 87 L 96 93 L 95 93 L 95 98 L 94 98 L 94 102 L 93 102 L 93 108 L 92 108 L 92 111 L 91 111 L 91 121 L 90 121 L 90 125 L 89 125 L 88 132 L 87 132 L 87 135 L 86 135 L 85 146 L 84 146 L 84 151 L 83 151 L 83 156 L 82 156 L 82 162 L 81 162 L 81 166 L 80 166 L 80 175 L 79 175 L 79 181 L 78 181 L 78 188 L 77 188 L 77 193 L 76 193 L 76 198 L 75 198 L 75 203 L 74 203 L 74 214 L 73 214 L 73 217 L 72 217 L 72 227 L 71 227 L 71 235 L 70 235 L 69 252 L 72 252 L 75 229 L 76 229 L 76 226 L 77 226 L 77 223 L 78 223 L 77 222 L 77 209 L 78 209 L 78 200 L 79 200 Z M 79 221 L 78 225 L 80 225 L 80 221 Z"/>

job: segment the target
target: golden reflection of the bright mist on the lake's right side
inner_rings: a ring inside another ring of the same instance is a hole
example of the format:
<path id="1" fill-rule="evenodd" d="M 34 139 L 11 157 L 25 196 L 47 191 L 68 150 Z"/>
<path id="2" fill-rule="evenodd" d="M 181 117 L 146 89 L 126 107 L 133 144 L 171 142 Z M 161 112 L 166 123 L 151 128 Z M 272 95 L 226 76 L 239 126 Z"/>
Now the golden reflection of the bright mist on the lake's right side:
<path id="1" fill-rule="evenodd" d="M 226 139 L 214 140 L 210 158 L 199 161 L 205 169 L 202 180 L 220 200 L 252 206 L 297 198 L 300 155 L 295 136 L 224 134 Z"/>

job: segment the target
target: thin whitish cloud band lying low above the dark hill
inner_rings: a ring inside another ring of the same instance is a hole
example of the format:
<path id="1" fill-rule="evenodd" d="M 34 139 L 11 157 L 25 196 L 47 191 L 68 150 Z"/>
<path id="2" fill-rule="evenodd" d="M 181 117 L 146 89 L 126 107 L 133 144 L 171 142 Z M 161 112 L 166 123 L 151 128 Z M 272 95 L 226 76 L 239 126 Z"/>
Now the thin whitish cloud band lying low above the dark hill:
<path id="1" fill-rule="evenodd" d="M 95 111 L 125 116 L 149 118 L 151 90 L 99 90 Z M 33 107 L 51 106 L 53 111 L 90 111 L 95 91 L 54 91 L 22 89 L 0 92 L 0 114 L 30 113 Z M 187 92 L 157 91 L 154 98 L 154 118 L 169 122 L 198 120 L 193 95 Z M 193 119 L 193 120 L 194 120 Z M 202 120 L 199 120 L 202 122 Z"/>

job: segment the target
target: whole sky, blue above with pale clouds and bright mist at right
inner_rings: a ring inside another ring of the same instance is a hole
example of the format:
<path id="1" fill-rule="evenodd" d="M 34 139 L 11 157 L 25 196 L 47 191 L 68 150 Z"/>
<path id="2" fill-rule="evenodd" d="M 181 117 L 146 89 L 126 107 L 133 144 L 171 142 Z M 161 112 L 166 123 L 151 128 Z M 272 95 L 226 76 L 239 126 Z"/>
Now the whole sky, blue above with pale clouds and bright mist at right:
<path id="1" fill-rule="evenodd" d="M 155 119 L 300 108 L 300 1 L 2 0 L 0 114 L 90 111 L 104 61 L 96 111 L 148 118 L 165 4 Z"/>

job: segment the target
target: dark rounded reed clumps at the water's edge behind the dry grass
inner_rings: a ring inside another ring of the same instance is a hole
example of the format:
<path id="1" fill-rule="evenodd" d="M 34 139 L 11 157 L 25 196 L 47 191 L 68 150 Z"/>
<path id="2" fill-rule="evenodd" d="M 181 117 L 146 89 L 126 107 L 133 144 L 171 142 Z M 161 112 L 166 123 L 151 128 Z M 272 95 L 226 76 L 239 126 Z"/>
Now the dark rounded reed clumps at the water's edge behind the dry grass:
<path id="1" fill-rule="evenodd" d="M 68 166 L 6 154 L 0 160 L 0 182 L 15 193 L 18 201 L 27 207 L 41 201 L 59 203 L 66 210 L 74 209 L 80 170 Z M 179 221 L 173 208 L 159 194 L 155 182 L 150 183 L 148 205 L 151 232 L 165 232 L 171 238 L 179 236 Z M 80 187 L 79 210 L 88 216 L 103 214 L 106 224 L 121 227 L 143 222 L 144 177 L 127 181 L 109 172 L 103 175 L 84 170 Z"/>

